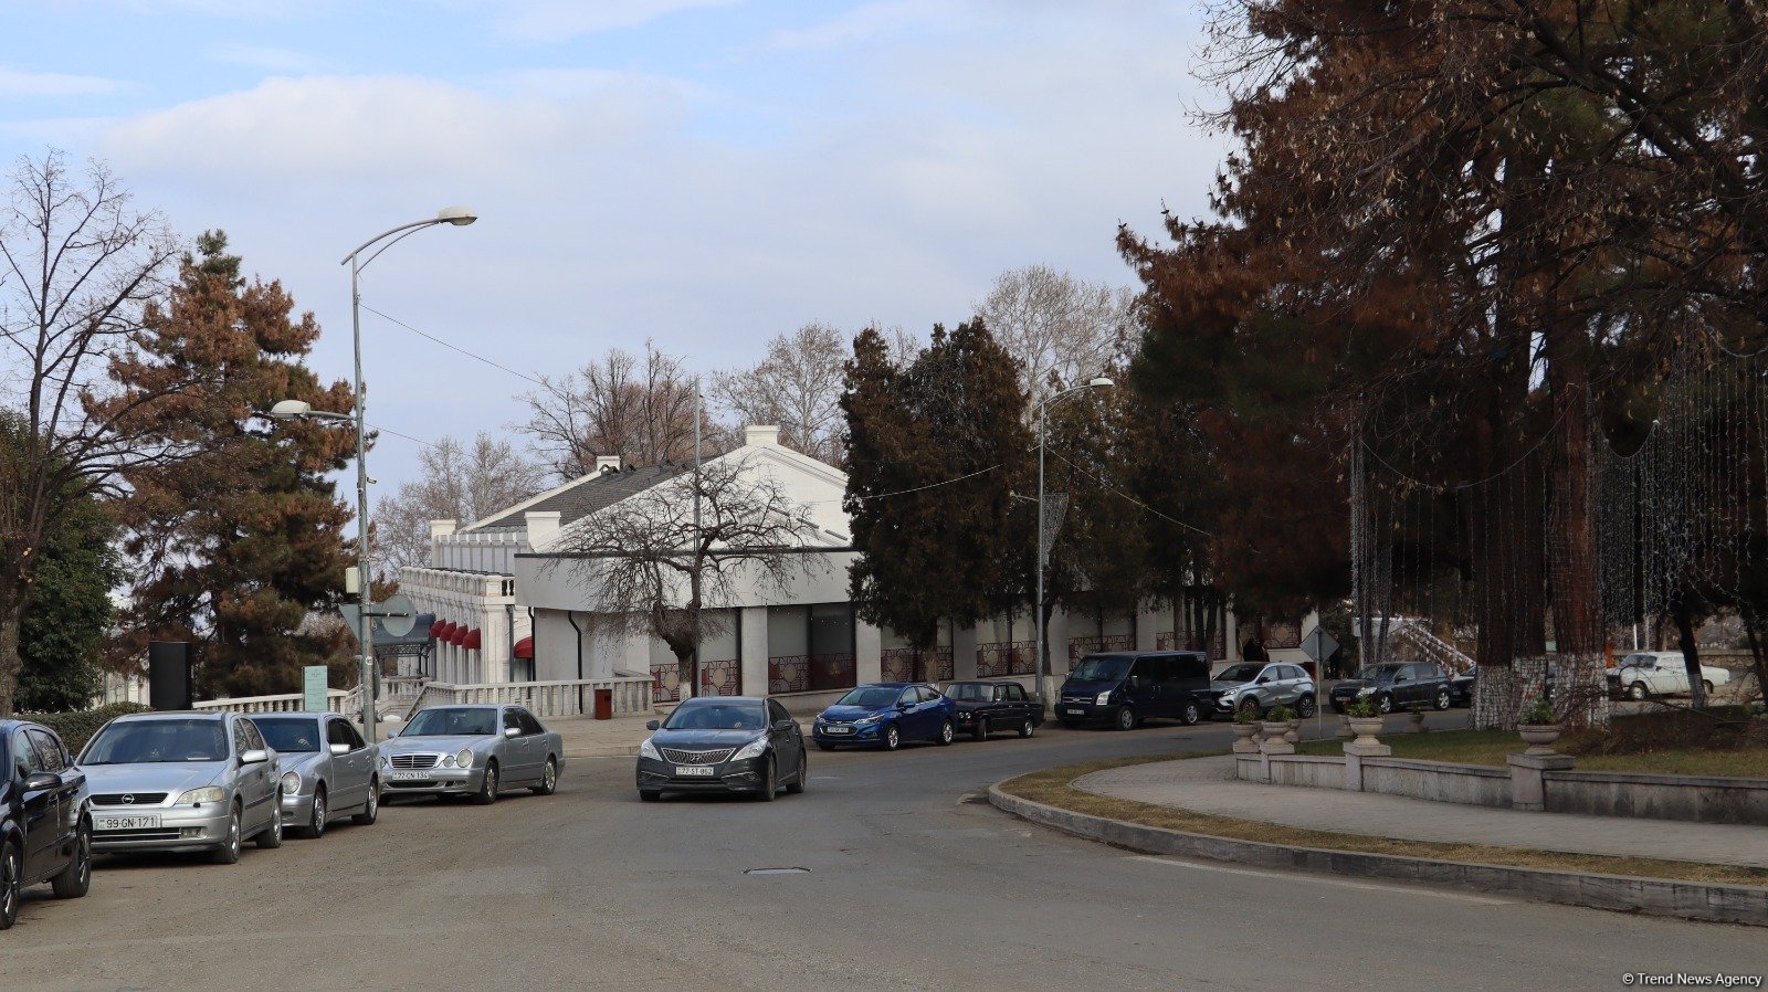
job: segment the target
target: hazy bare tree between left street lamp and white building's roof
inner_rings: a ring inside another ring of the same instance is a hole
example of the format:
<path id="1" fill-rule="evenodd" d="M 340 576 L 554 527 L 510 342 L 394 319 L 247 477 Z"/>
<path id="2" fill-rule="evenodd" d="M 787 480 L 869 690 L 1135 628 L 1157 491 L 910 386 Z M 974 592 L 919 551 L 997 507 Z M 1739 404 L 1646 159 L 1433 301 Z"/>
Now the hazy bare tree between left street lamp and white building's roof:
<path id="1" fill-rule="evenodd" d="M 419 453 L 421 476 L 375 509 L 375 571 L 396 582 L 405 566 L 430 562 L 430 522 L 470 523 L 529 499 L 546 469 L 507 440 L 479 431 L 472 446 L 453 437 Z"/>

